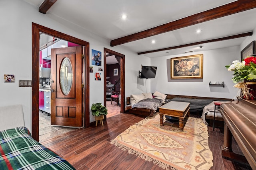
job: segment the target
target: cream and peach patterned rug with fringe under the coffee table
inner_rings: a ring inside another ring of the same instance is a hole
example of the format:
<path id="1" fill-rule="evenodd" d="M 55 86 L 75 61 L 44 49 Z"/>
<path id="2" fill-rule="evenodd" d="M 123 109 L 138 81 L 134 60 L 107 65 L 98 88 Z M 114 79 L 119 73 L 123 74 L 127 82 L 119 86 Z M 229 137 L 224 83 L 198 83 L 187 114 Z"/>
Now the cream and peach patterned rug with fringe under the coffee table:
<path id="1" fill-rule="evenodd" d="M 175 124 L 164 119 L 160 126 L 157 114 L 135 123 L 111 143 L 164 169 L 209 170 L 213 157 L 202 119 L 189 117 L 184 131 Z"/>

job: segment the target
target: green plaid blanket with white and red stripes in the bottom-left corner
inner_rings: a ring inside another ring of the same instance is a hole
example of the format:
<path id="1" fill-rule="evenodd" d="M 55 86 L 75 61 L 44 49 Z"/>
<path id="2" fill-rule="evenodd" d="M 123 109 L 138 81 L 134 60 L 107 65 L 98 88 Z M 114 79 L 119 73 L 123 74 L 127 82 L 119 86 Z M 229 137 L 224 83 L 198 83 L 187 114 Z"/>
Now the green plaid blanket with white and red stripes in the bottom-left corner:
<path id="1" fill-rule="evenodd" d="M 35 141 L 26 127 L 0 131 L 0 170 L 75 170 Z"/>

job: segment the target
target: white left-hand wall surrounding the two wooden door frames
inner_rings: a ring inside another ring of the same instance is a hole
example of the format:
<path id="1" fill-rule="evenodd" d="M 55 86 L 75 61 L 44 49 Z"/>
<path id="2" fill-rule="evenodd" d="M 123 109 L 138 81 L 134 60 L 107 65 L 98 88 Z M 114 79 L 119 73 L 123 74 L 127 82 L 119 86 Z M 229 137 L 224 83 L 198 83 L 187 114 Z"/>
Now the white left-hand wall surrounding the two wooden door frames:
<path id="1" fill-rule="evenodd" d="M 118 47 L 110 47 L 110 41 L 90 33 L 81 27 L 72 25 L 52 14 L 41 14 L 38 7 L 27 4 L 22 0 L 0 1 L 0 106 L 22 104 L 25 125 L 31 130 L 32 89 L 18 87 L 18 80 L 32 80 L 32 22 L 66 33 L 90 43 L 91 50 L 104 53 L 104 47 L 125 55 L 125 93 L 130 96 L 140 92 L 137 85 L 137 73 L 140 64 L 150 64 L 147 57 L 138 57 L 136 53 Z M 103 60 L 103 59 L 102 59 Z M 104 64 L 104 61 L 102 61 Z M 14 83 L 4 83 L 4 74 L 15 74 Z M 104 72 L 102 72 L 102 75 Z M 148 85 L 150 87 L 150 84 Z M 90 74 L 90 106 L 95 102 L 104 102 L 104 80 L 95 81 Z M 7 113 L 8 114 L 8 113 Z M 90 115 L 90 122 L 94 121 Z"/>

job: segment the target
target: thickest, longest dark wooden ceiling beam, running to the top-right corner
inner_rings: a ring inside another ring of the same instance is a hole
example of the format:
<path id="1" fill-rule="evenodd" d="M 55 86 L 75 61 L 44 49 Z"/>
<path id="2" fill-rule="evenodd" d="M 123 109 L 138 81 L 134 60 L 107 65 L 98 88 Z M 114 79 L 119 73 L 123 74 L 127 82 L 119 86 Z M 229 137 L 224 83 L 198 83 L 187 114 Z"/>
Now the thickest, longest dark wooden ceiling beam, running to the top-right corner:
<path id="1" fill-rule="evenodd" d="M 207 10 L 198 14 L 194 14 L 192 16 L 182 18 L 180 20 L 172 21 L 163 25 L 159 25 L 157 27 L 140 31 L 138 33 L 114 39 L 110 41 L 110 46 L 114 47 L 116 45 L 129 43 L 146 37 L 151 37 L 153 35 L 166 33 L 183 27 L 188 27 L 190 25 L 195 25 L 205 21 L 210 21 L 224 16 L 236 14 L 238 12 L 250 10 L 253 8 L 256 8 L 256 0 L 238 0 L 223 6 L 213 8 L 211 10 Z"/>

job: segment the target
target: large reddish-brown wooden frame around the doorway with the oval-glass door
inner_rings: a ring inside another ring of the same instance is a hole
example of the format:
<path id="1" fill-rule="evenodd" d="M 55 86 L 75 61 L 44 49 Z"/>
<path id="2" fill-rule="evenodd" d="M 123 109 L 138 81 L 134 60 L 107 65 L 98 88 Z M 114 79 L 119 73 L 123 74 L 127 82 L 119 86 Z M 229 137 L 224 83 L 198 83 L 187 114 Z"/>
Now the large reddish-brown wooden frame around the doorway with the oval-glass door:
<path id="1" fill-rule="evenodd" d="M 45 33 L 47 35 L 58 37 L 65 41 L 76 43 L 84 46 L 84 60 L 83 60 L 83 104 L 82 111 L 84 112 L 84 127 L 90 126 L 90 106 L 89 106 L 89 95 L 90 95 L 90 81 L 89 81 L 89 72 L 90 72 L 90 52 L 89 52 L 89 43 L 81 39 L 72 37 L 70 35 L 55 31 L 48 27 L 44 27 L 37 23 L 32 23 L 32 137 L 39 141 L 39 33 Z"/>

